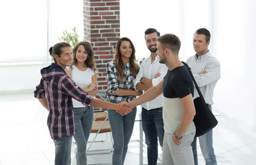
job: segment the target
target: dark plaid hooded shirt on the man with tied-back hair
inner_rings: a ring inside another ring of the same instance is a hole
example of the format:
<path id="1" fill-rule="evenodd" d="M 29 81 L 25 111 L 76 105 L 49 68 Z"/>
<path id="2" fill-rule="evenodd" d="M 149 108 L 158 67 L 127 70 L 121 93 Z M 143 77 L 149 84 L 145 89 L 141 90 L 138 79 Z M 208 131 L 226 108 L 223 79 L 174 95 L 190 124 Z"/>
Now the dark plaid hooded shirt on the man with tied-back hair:
<path id="1" fill-rule="evenodd" d="M 41 69 L 41 82 L 34 91 L 35 98 L 46 97 L 49 107 L 48 129 L 52 139 L 75 135 L 72 98 L 89 104 L 92 96 L 77 87 L 59 65 L 52 63 Z"/>

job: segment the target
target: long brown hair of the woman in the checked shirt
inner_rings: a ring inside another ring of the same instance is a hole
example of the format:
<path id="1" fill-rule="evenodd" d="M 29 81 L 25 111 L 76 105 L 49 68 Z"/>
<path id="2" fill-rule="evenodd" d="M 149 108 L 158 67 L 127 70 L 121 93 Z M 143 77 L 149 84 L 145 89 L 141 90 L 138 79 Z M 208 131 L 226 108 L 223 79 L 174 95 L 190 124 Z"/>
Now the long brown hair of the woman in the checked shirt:
<path id="1" fill-rule="evenodd" d="M 121 60 L 121 53 L 119 52 L 119 48 L 121 46 L 121 43 L 123 41 L 130 42 L 130 45 L 132 46 L 132 54 L 130 55 L 130 72 L 136 77 L 139 72 L 139 65 L 136 63 L 136 57 L 135 57 L 135 46 L 133 45 L 132 41 L 128 39 L 127 37 L 123 37 L 117 41 L 117 46 L 115 48 L 115 54 L 114 59 L 117 63 L 117 74 L 119 76 L 119 80 L 122 82 L 124 81 L 124 63 Z"/>

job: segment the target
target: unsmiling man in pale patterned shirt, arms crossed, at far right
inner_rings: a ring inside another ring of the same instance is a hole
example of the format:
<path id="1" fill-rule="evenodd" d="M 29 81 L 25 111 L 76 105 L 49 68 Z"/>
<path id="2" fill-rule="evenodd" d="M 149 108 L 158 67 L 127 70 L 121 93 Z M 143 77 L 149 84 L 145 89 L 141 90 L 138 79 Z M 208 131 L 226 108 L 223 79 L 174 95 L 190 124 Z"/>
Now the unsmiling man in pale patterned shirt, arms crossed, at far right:
<path id="1" fill-rule="evenodd" d="M 210 32 L 205 28 L 197 30 L 193 38 L 193 46 L 196 54 L 188 58 L 187 63 L 191 68 L 201 94 L 204 96 L 206 104 L 208 104 L 211 110 L 211 105 L 213 104 L 213 90 L 220 78 L 220 63 L 217 58 L 211 56 L 208 50 L 209 44 Z M 195 90 L 194 98 L 198 96 L 199 94 L 197 90 Z M 216 165 L 217 161 L 213 149 L 213 130 L 199 136 L 199 143 L 206 164 Z M 195 137 L 192 147 L 195 165 L 197 165 L 197 137 Z"/>

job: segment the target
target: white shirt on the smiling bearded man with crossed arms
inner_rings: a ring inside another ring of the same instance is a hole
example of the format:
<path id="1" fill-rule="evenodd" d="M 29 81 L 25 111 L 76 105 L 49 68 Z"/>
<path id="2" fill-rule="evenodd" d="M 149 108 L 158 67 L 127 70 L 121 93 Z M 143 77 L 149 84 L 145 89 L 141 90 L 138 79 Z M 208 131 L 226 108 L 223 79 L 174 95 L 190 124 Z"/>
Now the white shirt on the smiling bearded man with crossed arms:
<path id="1" fill-rule="evenodd" d="M 158 83 L 161 82 L 161 80 L 164 79 L 164 76 L 166 76 L 166 73 L 168 71 L 168 67 L 166 67 L 165 64 L 159 63 L 159 56 L 155 57 L 155 61 L 151 63 L 151 55 L 142 61 L 141 65 L 139 65 L 139 73 L 136 76 L 136 79 L 134 80 L 135 90 L 137 83 L 140 83 L 141 78 L 148 78 L 152 79 L 152 86 L 156 86 Z M 155 78 L 155 76 L 160 73 L 161 76 L 158 78 Z M 150 109 L 156 109 L 159 107 L 163 107 L 162 103 L 162 94 L 157 96 L 154 100 L 151 100 L 149 102 L 145 102 L 144 104 L 141 104 L 141 107 L 144 107 L 144 109 L 150 110 Z"/>

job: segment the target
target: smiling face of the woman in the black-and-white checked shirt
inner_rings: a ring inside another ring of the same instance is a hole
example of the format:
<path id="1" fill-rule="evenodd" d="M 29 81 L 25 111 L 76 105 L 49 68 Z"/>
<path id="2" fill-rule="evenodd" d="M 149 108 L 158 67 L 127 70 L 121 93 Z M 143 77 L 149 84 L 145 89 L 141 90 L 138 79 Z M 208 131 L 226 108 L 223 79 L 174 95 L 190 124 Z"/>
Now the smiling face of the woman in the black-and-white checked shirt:
<path id="1" fill-rule="evenodd" d="M 122 41 L 119 52 L 121 54 L 121 59 L 124 63 L 128 63 L 130 55 L 132 54 L 132 45 L 129 41 Z"/>

